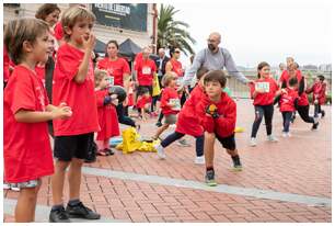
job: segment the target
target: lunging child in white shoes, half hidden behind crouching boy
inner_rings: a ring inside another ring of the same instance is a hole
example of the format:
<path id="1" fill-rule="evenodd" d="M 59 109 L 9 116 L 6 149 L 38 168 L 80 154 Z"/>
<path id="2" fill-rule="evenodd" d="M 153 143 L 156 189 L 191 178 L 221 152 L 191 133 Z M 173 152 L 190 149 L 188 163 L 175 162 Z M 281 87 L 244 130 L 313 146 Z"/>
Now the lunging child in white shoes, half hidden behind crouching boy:
<path id="1" fill-rule="evenodd" d="M 164 138 L 161 144 L 155 145 L 154 148 L 158 151 L 160 158 L 165 158 L 164 148 L 174 143 L 175 140 L 181 140 L 186 134 L 194 136 L 196 138 L 196 159 L 195 163 L 203 165 L 205 163 L 204 157 L 204 128 L 200 125 L 199 117 L 196 115 L 196 105 L 198 100 L 205 95 L 203 82 L 204 75 L 208 72 L 207 68 L 200 68 L 197 71 L 198 84 L 190 92 L 189 99 L 186 100 L 183 105 L 177 123 L 176 129 L 174 133 L 170 134 Z"/>

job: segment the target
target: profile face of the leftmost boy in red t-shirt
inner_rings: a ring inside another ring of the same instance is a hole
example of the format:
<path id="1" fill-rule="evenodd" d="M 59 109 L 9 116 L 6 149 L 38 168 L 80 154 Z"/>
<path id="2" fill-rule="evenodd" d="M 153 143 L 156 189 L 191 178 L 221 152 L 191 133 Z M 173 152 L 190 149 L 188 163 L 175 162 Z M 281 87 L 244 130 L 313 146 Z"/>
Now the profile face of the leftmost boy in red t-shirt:
<path id="1" fill-rule="evenodd" d="M 53 44 L 49 42 L 49 33 L 45 32 L 43 35 L 39 35 L 32 48 L 32 54 L 34 56 L 34 60 L 37 63 L 46 63 L 48 60 L 48 56 L 51 54 Z"/>

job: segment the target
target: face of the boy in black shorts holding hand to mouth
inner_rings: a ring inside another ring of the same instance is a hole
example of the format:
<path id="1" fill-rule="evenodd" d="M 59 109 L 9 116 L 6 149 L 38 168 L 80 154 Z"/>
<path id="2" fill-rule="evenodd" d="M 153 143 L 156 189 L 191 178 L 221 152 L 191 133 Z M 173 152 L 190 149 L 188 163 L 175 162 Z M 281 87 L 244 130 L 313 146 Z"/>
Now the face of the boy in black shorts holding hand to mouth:
<path id="1" fill-rule="evenodd" d="M 69 29 L 67 33 L 71 36 L 70 39 L 78 45 L 82 45 L 82 38 L 89 39 L 93 27 L 92 20 L 78 20 L 72 29 Z"/>

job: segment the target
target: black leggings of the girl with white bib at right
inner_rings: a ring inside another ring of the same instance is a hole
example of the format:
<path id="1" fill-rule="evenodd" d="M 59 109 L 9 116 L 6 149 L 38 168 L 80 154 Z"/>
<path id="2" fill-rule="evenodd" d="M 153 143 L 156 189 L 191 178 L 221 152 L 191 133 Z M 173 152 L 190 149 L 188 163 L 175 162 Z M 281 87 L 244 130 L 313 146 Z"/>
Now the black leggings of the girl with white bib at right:
<path id="1" fill-rule="evenodd" d="M 255 105 L 255 121 L 253 123 L 252 136 L 256 137 L 259 125 L 265 118 L 266 134 L 270 135 L 273 133 L 273 116 L 274 116 L 274 104 L 269 105 Z"/>

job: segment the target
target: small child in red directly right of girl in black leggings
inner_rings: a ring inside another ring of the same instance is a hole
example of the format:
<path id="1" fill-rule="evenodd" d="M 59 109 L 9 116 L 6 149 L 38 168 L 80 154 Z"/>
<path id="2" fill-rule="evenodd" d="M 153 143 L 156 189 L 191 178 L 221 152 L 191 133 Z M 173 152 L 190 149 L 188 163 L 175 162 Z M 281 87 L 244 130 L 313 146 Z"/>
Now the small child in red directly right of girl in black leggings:
<path id="1" fill-rule="evenodd" d="M 275 103 L 279 101 L 280 112 L 282 115 L 282 137 L 290 137 L 290 121 L 293 112 L 298 108 L 299 94 L 298 94 L 298 79 L 296 77 L 288 80 L 288 87 L 281 89 L 277 93 Z"/>

